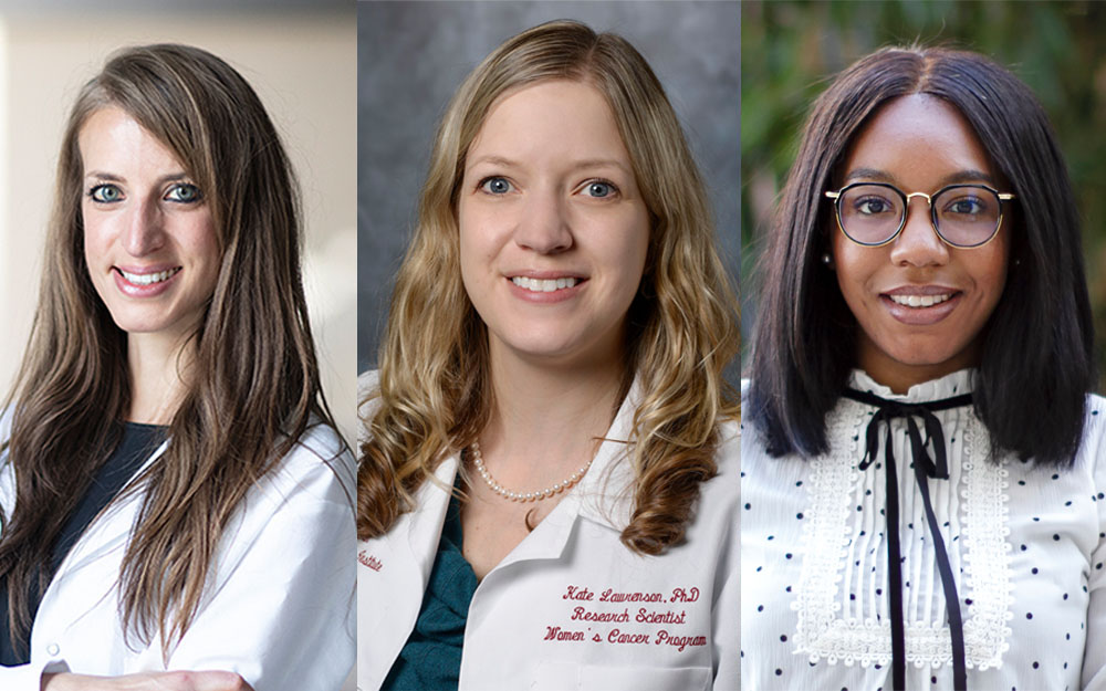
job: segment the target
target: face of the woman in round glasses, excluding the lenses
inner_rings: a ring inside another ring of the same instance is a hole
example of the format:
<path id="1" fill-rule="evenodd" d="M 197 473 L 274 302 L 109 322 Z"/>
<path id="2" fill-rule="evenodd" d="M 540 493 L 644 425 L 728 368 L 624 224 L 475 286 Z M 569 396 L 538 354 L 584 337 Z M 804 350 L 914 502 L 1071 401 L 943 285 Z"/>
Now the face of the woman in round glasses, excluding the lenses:
<path id="1" fill-rule="evenodd" d="M 971 126 L 939 98 L 901 96 L 860 129 L 842 169 L 835 184 L 894 185 L 912 197 L 901 231 L 886 244 L 860 245 L 831 229 L 837 284 L 860 327 L 859 367 L 905 391 L 977 365 L 981 334 L 1006 282 L 1010 220 L 981 247 L 951 247 L 915 195 L 953 182 L 1005 188 Z"/>

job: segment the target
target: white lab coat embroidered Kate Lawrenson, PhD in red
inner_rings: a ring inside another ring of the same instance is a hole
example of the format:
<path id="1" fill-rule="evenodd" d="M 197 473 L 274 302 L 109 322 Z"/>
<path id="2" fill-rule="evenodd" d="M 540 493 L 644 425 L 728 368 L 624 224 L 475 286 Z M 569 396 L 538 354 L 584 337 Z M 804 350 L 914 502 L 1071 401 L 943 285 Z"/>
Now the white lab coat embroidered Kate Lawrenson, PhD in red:
<path id="1" fill-rule="evenodd" d="M 607 439 L 627 438 L 636 400 L 635 387 Z M 737 426 L 723 426 L 719 475 L 702 485 L 687 540 L 640 556 L 618 540 L 633 510 L 625 444 L 603 442 L 580 484 L 477 587 L 460 690 L 734 691 L 738 443 Z M 417 511 L 358 544 L 361 691 L 379 689 L 414 629 L 457 468 L 445 460 Z"/>

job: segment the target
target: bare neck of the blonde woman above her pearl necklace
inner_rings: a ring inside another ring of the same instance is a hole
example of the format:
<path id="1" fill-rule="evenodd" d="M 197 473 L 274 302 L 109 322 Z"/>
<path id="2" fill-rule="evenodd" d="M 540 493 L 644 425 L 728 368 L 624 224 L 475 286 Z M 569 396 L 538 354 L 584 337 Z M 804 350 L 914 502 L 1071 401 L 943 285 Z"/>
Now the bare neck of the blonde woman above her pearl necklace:
<path id="1" fill-rule="evenodd" d="M 551 367 L 511 357 L 494 344 L 490 356 L 494 408 L 480 439 L 486 458 L 553 482 L 594 456 L 618 404 L 620 356 Z"/>

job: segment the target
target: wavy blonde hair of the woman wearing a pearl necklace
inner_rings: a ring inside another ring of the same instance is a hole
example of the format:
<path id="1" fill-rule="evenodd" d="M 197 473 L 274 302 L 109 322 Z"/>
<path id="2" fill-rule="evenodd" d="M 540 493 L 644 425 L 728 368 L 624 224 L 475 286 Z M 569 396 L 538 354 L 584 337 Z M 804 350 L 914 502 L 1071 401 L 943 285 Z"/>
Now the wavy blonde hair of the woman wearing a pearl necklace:
<path id="1" fill-rule="evenodd" d="M 719 425 L 738 413 L 722 368 L 737 356 L 739 332 L 705 186 L 645 59 L 616 34 L 555 21 L 484 59 L 438 128 L 415 237 L 392 296 L 378 385 L 369 394 L 374 411 L 364 420 L 362 540 L 383 535 L 414 510 L 415 491 L 489 420 L 488 336 L 461 284 L 458 189 L 469 146 L 497 100 L 546 80 L 583 81 L 604 94 L 650 214 L 646 269 L 626 329 L 623 395 L 635 376 L 646 395 L 633 421 L 635 509 L 623 543 L 659 554 L 679 542 L 699 485 L 717 473 Z"/>

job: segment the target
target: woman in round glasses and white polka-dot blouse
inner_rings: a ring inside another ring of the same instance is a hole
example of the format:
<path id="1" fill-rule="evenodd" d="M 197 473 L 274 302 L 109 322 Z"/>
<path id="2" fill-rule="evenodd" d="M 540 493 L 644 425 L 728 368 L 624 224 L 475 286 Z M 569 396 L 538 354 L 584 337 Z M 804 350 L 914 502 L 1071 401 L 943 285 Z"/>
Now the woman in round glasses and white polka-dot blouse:
<path id="1" fill-rule="evenodd" d="M 1106 688 L 1106 401 L 1064 161 L 981 55 L 816 101 L 743 397 L 742 689 Z"/>

